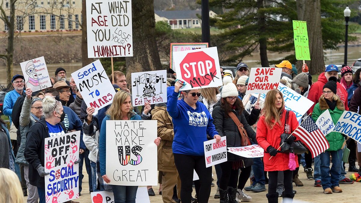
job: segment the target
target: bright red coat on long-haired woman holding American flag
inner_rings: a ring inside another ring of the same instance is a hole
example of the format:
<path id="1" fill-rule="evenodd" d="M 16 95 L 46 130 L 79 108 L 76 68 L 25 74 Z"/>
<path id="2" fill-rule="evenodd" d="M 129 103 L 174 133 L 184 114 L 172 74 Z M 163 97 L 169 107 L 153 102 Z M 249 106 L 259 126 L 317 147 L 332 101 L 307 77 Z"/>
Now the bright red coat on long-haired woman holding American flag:
<path id="1" fill-rule="evenodd" d="M 281 142 L 281 134 L 284 132 L 284 126 L 285 126 L 285 117 L 286 117 L 286 111 L 283 111 L 281 115 L 281 123 L 282 125 L 279 125 L 279 123 L 276 123 L 272 129 L 267 128 L 266 122 L 265 122 L 265 116 L 261 116 L 260 120 L 257 123 L 257 134 L 256 139 L 258 144 L 265 150 L 264 157 L 263 157 L 263 163 L 265 165 L 265 171 L 275 171 L 275 170 L 289 170 L 288 168 L 288 161 L 289 154 L 283 154 L 283 153 L 277 153 L 276 156 L 272 157 L 271 160 L 270 154 L 266 153 L 267 147 L 272 146 L 276 150 L 279 147 L 279 144 Z M 274 119 L 273 119 L 274 122 Z M 291 127 L 291 132 L 293 132 L 299 125 L 295 113 L 290 111 L 288 113 L 288 124 Z M 298 165 L 298 157 L 295 157 L 295 161 Z"/>

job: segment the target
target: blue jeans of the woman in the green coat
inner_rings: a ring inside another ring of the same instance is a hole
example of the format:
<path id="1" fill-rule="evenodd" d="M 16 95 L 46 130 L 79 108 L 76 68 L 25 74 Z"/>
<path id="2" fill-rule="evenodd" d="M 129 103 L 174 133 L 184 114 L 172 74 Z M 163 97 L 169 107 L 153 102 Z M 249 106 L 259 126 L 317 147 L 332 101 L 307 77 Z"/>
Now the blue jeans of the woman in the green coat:
<path id="1" fill-rule="evenodd" d="M 332 167 L 330 169 L 330 155 L 332 156 Z M 337 151 L 325 151 L 320 155 L 322 188 L 333 188 L 339 186 L 342 149 Z M 316 168 L 316 167 L 315 167 Z"/>

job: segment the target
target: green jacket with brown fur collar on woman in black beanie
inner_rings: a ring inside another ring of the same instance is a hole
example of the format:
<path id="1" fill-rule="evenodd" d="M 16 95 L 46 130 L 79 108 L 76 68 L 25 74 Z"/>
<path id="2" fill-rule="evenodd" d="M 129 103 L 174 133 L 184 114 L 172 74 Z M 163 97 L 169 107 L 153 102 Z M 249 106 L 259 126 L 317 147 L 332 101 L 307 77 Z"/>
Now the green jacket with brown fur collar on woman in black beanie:
<path id="1" fill-rule="evenodd" d="M 334 122 L 335 124 L 341 117 L 342 113 L 345 111 L 345 107 L 340 98 L 337 97 L 336 107 L 333 111 L 331 111 L 329 105 L 325 100 L 325 97 L 322 95 L 321 98 L 319 98 L 318 103 L 313 108 L 312 119 L 316 121 L 317 118 L 326 110 L 330 112 L 332 122 Z M 326 139 L 330 144 L 330 148 L 326 151 L 336 151 L 341 149 L 342 144 L 345 141 L 345 137 L 343 136 L 343 134 L 338 132 L 331 132 L 327 134 Z"/>

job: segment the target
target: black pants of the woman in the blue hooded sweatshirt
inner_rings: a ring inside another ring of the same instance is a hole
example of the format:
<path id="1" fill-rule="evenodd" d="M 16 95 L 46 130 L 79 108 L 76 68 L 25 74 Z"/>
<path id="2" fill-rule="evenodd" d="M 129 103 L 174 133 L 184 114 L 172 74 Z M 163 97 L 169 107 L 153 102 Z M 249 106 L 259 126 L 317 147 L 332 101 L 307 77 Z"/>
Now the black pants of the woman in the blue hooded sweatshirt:
<path id="1" fill-rule="evenodd" d="M 210 184 L 212 183 L 212 167 L 205 167 L 204 156 L 194 156 L 185 154 L 173 154 L 175 166 L 177 167 L 179 177 L 181 178 L 181 201 L 190 203 L 192 197 L 193 169 L 199 176 L 200 203 L 207 203 L 210 195 Z"/>

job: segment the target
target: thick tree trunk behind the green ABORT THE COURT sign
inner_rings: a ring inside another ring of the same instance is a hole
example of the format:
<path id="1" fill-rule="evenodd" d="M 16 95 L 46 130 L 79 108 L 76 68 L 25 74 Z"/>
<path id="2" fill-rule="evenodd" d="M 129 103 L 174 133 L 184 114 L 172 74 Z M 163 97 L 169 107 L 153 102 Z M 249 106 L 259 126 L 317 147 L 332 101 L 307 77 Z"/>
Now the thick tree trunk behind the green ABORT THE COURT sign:
<path id="1" fill-rule="evenodd" d="M 298 20 L 307 22 L 308 43 L 311 61 L 305 61 L 310 74 L 319 74 L 325 71 L 323 60 L 323 41 L 321 31 L 321 1 L 297 0 Z M 303 61 L 297 61 L 298 69 Z"/>

